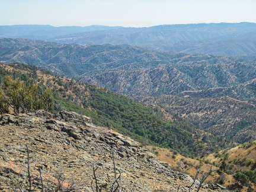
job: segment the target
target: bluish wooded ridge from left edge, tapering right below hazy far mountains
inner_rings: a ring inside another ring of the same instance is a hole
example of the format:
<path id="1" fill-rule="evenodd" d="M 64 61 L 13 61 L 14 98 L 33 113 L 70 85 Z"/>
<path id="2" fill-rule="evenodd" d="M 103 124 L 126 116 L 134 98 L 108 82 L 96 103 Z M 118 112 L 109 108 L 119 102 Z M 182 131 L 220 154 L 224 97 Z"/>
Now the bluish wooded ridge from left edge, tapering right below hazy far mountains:
<path id="1" fill-rule="evenodd" d="M 124 68 L 126 65 L 139 69 L 168 63 L 182 56 L 131 46 L 79 46 L 25 39 L 0 39 L 0 46 L 2 63 L 21 62 L 44 66 L 66 76 Z"/>

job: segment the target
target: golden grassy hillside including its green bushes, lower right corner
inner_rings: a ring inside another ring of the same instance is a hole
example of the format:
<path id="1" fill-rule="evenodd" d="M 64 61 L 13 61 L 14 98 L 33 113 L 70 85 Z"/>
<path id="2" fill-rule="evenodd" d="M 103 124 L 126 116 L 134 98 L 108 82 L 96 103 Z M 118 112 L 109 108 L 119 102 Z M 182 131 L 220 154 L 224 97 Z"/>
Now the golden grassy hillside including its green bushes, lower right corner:
<path id="1" fill-rule="evenodd" d="M 217 174 L 211 174 L 206 183 L 220 183 L 229 190 L 239 190 L 242 192 L 253 191 L 255 186 L 254 178 L 256 175 L 256 142 L 246 142 L 235 148 L 226 149 L 217 153 L 207 154 L 200 158 L 188 158 L 187 156 L 178 155 L 167 149 L 155 148 L 148 146 L 149 151 L 157 153 L 158 159 L 171 164 L 172 168 L 196 175 L 200 165 L 200 170 L 207 172 L 210 167 L 218 169 Z M 223 163 L 225 162 L 225 163 Z M 244 187 L 235 179 L 237 172 L 250 172 L 252 183 L 245 180 Z"/>

